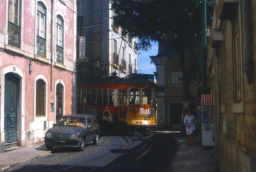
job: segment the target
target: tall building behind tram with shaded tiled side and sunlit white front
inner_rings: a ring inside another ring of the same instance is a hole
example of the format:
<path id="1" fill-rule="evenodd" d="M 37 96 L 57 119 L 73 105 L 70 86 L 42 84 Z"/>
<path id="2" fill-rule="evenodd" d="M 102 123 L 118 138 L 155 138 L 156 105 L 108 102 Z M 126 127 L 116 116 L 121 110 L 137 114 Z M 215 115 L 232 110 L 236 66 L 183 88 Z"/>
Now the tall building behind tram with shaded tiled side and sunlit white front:
<path id="1" fill-rule="evenodd" d="M 121 28 L 112 27 L 108 0 L 77 1 L 77 36 L 85 37 L 88 62 L 79 64 L 79 78 L 106 78 L 116 71 L 119 77 L 138 70 L 137 38 L 122 36 Z M 94 63 L 100 63 L 95 68 Z"/>

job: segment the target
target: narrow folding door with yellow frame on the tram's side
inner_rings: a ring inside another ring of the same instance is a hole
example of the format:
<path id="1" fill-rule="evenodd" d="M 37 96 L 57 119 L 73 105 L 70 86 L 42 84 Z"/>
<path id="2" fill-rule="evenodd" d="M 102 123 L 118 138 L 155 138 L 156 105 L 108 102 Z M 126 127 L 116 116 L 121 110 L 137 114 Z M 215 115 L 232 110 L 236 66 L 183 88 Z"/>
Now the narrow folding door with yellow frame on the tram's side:
<path id="1" fill-rule="evenodd" d="M 126 121 L 127 118 L 127 90 L 119 90 L 119 121 Z"/>

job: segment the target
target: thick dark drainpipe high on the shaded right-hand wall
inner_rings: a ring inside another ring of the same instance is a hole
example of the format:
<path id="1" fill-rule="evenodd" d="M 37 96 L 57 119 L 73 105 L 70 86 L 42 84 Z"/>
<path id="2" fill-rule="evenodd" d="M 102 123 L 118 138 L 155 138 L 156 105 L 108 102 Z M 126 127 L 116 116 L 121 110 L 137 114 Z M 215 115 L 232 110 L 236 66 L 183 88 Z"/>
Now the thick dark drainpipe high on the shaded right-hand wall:
<path id="1" fill-rule="evenodd" d="M 242 1 L 242 42 L 244 72 L 247 77 L 247 83 L 253 81 L 253 61 L 252 61 L 252 19 L 251 19 L 251 1 Z"/>

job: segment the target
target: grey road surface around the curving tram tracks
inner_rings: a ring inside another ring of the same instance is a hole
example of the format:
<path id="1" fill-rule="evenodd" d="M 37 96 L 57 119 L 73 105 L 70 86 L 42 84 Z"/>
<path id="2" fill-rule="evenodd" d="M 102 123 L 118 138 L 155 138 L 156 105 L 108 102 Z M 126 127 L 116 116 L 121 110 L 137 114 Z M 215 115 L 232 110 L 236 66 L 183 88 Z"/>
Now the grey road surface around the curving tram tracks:
<path id="1" fill-rule="evenodd" d="M 131 167 L 129 167 L 126 170 L 127 172 L 168 171 L 178 148 L 178 143 L 173 137 L 168 135 L 151 133 L 148 134 L 147 137 L 153 140 L 153 147 Z M 124 140 L 124 138 L 126 139 Z M 77 149 L 72 147 L 54 147 L 50 155 L 40 157 L 16 168 L 9 169 L 8 171 L 53 172 L 64 168 L 69 168 L 74 165 L 77 166 L 75 168 L 67 169 L 65 172 L 88 171 L 99 166 L 99 164 L 102 164 L 111 156 L 115 156 L 115 158 L 110 162 L 117 163 L 99 171 L 120 171 L 123 166 L 126 166 L 127 163 L 129 163 L 128 160 L 130 155 L 134 151 L 140 150 L 143 147 L 144 143 L 142 139 L 134 136 L 131 138 L 134 140 L 131 140 L 127 136 L 121 137 L 115 134 L 102 132 L 100 143 L 98 145 L 93 145 L 92 142 L 87 143 L 83 152 L 77 152 Z M 45 145 L 43 145 L 41 148 L 44 149 Z M 98 159 L 98 157 L 102 158 Z M 81 164 L 83 162 L 89 163 Z M 104 164 L 102 166 L 104 166 Z"/>

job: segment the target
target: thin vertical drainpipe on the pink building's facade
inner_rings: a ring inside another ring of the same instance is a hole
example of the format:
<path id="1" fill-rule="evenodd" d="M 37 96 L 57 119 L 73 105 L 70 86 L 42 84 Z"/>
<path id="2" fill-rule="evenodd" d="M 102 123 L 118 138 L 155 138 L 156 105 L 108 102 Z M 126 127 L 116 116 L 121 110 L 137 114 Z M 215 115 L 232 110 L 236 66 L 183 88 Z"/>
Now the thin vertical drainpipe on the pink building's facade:
<path id="1" fill-rule="evenodd" d="M 50 83 L 51 83 L 51 90 L 52 90 L 52 68 L 53 68 L 53 58 L 54 58 L 54 36 L 53 36 L 53 32 L 54 32 L 54 26 L 53 26 L 53 19 L 54 19 L 54 7 L 53 7 L 53 0 L 51 0 L 51 70 L 50 70 Z"/>

